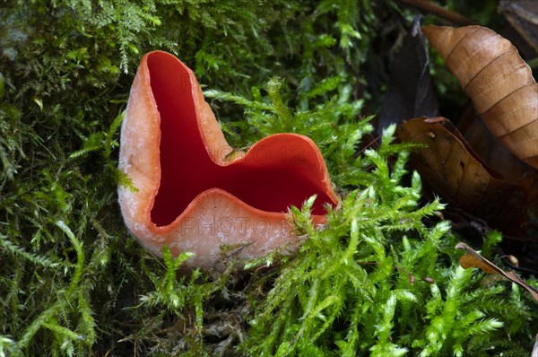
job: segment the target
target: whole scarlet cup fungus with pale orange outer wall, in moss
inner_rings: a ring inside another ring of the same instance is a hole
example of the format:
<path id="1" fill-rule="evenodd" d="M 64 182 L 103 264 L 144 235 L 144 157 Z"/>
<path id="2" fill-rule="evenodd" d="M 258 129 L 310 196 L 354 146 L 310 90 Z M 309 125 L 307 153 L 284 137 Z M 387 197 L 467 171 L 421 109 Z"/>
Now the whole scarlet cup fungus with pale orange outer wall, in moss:
<path id="1" fill-rule="evenodd" d="M 127 228 L 160 254 L 195 253 L 188 264 L 214 266 L 221 246 L 234 257 L 260 257 L 297 247 L 285 213 L 317 195 L 315 222 L 336 205 L 325 161 L 308 137 L 278 134 L 247 152 L 233 152 L 195 74 L 176 57 L 145 55 L 134 78 L 122 126 L 119 187 Z"/>

